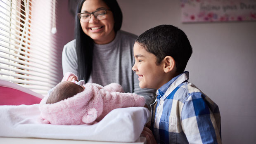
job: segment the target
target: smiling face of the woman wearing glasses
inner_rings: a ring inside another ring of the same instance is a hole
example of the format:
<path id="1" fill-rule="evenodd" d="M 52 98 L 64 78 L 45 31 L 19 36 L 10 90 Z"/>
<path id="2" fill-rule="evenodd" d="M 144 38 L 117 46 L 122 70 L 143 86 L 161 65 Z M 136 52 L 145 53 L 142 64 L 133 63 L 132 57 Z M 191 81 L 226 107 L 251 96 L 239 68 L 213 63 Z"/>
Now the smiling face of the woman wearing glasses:
<path id="1" fill-rule="evenodd" d="M 109 8 L 102 0 L 85 0 L 81 12 L 94 12 L 99 8 Z M 107 10 L 106 18 L 98 20 L 91 14 L 90 21 L 81 22 L 83 32 L 88 35 L 96 44 L 107 44 L 114 40 L 114 17 L 110 10 Z"/>

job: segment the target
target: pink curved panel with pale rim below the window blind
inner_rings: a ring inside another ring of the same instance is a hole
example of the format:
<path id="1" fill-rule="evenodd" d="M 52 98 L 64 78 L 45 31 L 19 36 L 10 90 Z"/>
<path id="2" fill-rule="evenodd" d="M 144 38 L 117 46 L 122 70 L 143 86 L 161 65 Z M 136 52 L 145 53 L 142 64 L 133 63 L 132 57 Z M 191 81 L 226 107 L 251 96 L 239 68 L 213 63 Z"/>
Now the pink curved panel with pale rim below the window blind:
<path id="1" fill-rule="evenodd" d="M 0 105 L 39 104 L 43 97 L 15 83 L 0 80 Z"/>

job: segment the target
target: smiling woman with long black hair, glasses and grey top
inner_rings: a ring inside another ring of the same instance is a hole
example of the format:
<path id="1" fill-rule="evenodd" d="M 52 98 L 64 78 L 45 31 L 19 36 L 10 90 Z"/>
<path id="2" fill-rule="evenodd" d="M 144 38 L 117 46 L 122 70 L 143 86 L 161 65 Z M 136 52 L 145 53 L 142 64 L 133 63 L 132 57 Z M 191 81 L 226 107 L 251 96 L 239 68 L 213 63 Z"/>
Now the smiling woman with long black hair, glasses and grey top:
<path id="1" fill-rule="evenodd" d="M 122 12 L 116 0 L 81 0 L 76 10 L 75 40 L 62 52 L 63 73 L 86 83 L 119 83 L 125 92 L 143 95 L 149 107 L 154 89 L 140 89 L 132 71 L 136 35 L 121 31 Z"/>

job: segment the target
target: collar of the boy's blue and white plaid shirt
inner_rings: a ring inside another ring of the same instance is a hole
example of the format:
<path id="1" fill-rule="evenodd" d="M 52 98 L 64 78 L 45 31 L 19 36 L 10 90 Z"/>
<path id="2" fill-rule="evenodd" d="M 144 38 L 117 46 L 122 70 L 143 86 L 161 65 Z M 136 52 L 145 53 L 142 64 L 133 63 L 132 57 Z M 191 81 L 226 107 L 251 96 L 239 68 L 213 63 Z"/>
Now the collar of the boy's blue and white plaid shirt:
<path id="1" fill-rule="evenodd" d="M 175 76 L 173 79 L 168 81 L 168 83 L 161 86 L 156 93 L 156 99 L 160 99 L 161 97 L 165 100 L 166 97 L 181 83 L 184 83 L 188 80 L 189 72 L 185 71 L 178 76 Z"/>

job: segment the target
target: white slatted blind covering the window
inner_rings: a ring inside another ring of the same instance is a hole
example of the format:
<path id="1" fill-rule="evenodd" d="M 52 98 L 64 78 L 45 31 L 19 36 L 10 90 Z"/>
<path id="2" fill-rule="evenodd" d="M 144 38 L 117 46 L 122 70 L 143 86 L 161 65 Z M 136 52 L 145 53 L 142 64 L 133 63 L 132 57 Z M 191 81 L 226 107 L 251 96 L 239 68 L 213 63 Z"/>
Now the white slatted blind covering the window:
<path id="1" fill-rule="evenodd" d="M 55 4 L 55 0 L 0 0 L 1 80 L 40 94 L 59 83 L 61 62 L 51 33 Z"/>

